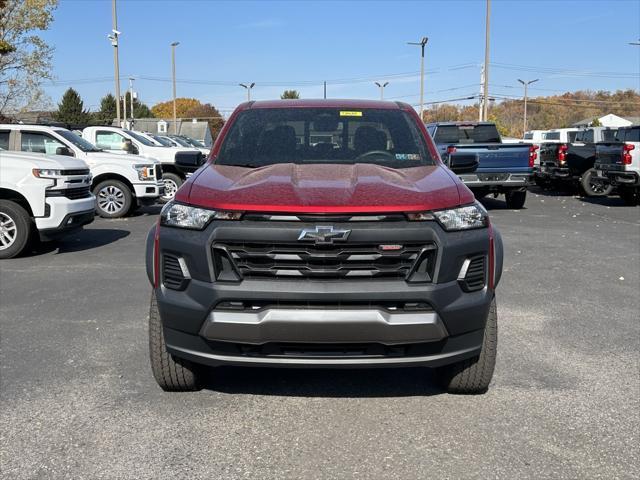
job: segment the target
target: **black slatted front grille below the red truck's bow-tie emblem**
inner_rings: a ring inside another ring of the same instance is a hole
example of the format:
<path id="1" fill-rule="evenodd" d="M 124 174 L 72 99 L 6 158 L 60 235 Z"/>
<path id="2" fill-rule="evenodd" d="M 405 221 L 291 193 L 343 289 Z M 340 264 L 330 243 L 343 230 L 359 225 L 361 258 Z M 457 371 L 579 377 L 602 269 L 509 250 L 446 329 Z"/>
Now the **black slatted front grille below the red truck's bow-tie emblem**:
<path id="1" fill-rule="evenodd" d="M 230 260 L 241 278 L 431 281 L 435 245 L 215 244 L 216 265 Z M 224 272 L 222 272 L 224 273 Z M 220 274 L 217 272 L 217 278 Z"/>

